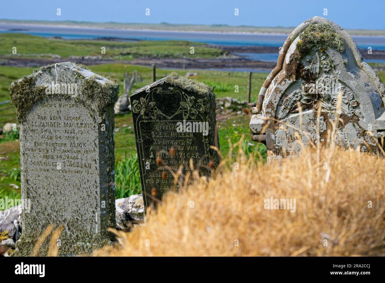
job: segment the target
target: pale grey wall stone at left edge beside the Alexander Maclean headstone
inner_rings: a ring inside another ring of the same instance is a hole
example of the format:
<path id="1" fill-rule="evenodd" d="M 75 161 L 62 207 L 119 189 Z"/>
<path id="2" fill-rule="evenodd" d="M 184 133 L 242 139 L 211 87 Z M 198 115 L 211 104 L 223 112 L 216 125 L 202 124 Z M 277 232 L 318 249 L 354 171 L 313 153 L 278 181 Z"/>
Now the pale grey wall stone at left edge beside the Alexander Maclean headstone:
<path id="1" fill-rule="evenodd" d="M 7 230 L 8 237 L 18 240 L 21 227 L 22 204 L 0 211 L 0 233 Z"/>

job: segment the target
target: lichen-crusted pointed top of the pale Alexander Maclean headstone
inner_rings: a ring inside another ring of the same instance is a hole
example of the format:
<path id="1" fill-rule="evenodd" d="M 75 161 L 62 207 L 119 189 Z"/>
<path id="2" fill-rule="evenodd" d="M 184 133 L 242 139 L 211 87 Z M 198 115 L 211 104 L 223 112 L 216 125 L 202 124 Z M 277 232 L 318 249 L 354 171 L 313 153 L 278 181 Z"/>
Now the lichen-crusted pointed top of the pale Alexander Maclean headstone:
<path id="1" fill-rule="evenodd" d="M 35 103 L 50 97 L 83 102 L 102 117 L 105 107 L 116 102 L 119 83 L 95 74 L 84 65 L 62 62 L 40 67 L 33 74 L 12 82 L 9 90 L 19 122 L 24 121 Z"/>

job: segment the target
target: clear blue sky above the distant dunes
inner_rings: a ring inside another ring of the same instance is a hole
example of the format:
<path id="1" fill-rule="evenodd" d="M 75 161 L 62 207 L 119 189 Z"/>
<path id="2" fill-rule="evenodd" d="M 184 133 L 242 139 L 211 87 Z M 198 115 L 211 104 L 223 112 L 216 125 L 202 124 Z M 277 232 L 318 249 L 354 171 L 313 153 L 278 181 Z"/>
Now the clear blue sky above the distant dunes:
<path id="1" fill-rule="evenodd" d="M 56 15 L 57 8 L 61 16 Z M 239 9 L 239 16 L 234 16 L 234 8 Z M 3 0 L 0 10 L 0 18 L 18 20 L 283 27 L 295 27 L 315 15 L 343 28 L 385 29 L 383 0 Z"/>

